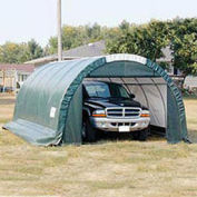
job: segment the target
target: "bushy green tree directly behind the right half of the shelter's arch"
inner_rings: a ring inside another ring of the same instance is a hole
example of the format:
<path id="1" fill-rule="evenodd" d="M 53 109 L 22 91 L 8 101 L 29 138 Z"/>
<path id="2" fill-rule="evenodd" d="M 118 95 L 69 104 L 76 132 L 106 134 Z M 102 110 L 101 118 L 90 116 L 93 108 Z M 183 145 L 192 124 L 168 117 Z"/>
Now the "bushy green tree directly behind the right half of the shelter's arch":
<path id="1" fill-rule="evenodd" d="M 156 61 L 164 56 L 161 49 L 169 43 L 168 24 L 162 21 L 129 27 L 124 22 L 120 31 L 119 37 L 107 41 L 109 53 L 135 53 Z"/>

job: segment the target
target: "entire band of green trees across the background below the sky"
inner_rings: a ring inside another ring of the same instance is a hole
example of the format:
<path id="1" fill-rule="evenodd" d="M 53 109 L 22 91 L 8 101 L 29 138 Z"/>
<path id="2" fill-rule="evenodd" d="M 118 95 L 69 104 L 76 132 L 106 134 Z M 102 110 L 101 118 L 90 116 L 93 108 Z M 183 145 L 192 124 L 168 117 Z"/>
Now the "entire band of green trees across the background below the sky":
<path id="1" fill-rule="evenodd" d="M 124 20 L 119 27 L 63 26 L 62 48 L 71 48 L 106 40 L 107 53 L 135 53 L 152 61 L 164 57 L 162 50 L 169 47 L 173 65 L 185 76 L 197 73 L 197 19 L 175 19 L 171 21 L 151 20 L 146 24 L 134 24 Z M 58 39 L 51 37 L 42 49 L 35 40 L 27 43 L 6 42 L 0 46 L 0 62 L 19 63 L 45 55 L 57 53 Z M 161 62 L 166 67 L 165 62 Z"/>

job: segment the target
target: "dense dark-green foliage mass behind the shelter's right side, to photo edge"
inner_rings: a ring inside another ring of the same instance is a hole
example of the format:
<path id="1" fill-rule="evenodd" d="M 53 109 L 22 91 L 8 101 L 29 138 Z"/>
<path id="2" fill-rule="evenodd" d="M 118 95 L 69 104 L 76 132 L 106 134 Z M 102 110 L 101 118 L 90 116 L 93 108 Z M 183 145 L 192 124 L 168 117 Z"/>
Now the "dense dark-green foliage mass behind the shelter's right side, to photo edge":
<path id="1" fill-rule="evenodd" d="M 164 57 L 162 48 L 173 50 L 173 66 L 184 76 L 197 73 L 197 19 L 173 21 L 151 20 L 148 24 L 129 24 L 122 21 L 120 33 L 107 40 L 109 53 L 135 53 L 152 61 Z M 161 62 L 162 67 L 167 67 Z"/>

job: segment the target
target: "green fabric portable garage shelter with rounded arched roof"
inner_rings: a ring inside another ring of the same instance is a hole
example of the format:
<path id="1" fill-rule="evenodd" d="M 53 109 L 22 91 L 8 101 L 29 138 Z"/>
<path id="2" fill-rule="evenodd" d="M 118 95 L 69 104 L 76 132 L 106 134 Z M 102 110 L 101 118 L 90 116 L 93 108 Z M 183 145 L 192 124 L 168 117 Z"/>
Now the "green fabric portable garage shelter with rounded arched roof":
<path id="1" fill-rule="evenodd" d="M 167 140 L 187 140 L 181 95 L 157 63 L 135 55 L 111 55 L 62 62 L 37 69 L 22 86 L 13 120 L 6 129 L 35 145 L 80 144 L 81 82 L 107 78 L 122 82 L 149 107 L 151 124 L 166 129 Z"/>

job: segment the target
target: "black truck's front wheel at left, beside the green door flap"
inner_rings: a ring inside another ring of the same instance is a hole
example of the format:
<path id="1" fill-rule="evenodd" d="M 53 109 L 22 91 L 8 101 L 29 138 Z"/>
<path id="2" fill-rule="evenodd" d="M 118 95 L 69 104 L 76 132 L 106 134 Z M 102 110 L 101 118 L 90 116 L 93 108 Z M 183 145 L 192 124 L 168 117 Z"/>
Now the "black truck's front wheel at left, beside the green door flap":
<path id="1" fill-rule="evenodd" d="M 97 140 L 97 130 L 93 129 L 89 119 L 82 122 L 82 137 L 85 141 L 95 142 Z"/>

